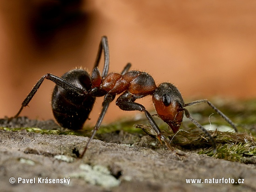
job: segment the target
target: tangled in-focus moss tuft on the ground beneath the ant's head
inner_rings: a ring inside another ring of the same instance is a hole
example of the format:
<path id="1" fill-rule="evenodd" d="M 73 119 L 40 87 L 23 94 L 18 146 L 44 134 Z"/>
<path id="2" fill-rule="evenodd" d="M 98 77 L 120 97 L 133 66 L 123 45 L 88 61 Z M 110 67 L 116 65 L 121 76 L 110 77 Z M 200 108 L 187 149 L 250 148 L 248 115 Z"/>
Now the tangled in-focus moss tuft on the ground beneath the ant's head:
<path id="1" fill-rule="evenodd" d="M 155 137 L 155 132 L 150 126 L 137 125 L 137 128 L 141 128 L 149 135 Z M 168 137 L 172 146 L 180 146 L 184 149 L 190 148 L 190 150 L 195 150 L 198 154 L 206 154 L 218 159 L 243 162 L 243 158 L 256 155 L 256 137 L 251 133 L 209 132 L 216 140 L 216 153 L 213 153 L 211 143 L 208 142 L 208 138 L 202 131 L 193 131 L 193 129 L 188 131 L 180 130 L 175 134 L 164 131 L 163 135 Z"/>

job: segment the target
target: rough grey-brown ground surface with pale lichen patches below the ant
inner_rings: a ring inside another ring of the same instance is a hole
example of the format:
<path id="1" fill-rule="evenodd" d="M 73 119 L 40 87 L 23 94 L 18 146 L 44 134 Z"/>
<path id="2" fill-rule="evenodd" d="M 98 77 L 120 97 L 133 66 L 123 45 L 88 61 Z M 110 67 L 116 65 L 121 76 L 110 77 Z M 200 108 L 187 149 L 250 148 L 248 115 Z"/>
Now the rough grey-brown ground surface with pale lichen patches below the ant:
<path id="1" fill-rule="evenodd" d="M 25 117 L 9 123 L 0 119 L 0 124 L 0 127 L 59 128 L 53 120 Z M 142 133 L 115 131 L 98 135 L 101 140 L 94 139 L 84 158 L 78 159 L 88 137 L 60 131 L 30 131 L 0 129 L 0 191 L 256 191 L 256 156 L 240 163 L 184 148 L 171 152 Z M 14 184 L 10 178 L 16 180 Z M 70 179 L 63 180 L 69 185 L 49 184 L 64 178 Z M 186 179 L 202 179 L 202 182 L 218 179 L 219 184 L 188 184 Z M 229 179 L 244 183 L 225 184 Z"/>

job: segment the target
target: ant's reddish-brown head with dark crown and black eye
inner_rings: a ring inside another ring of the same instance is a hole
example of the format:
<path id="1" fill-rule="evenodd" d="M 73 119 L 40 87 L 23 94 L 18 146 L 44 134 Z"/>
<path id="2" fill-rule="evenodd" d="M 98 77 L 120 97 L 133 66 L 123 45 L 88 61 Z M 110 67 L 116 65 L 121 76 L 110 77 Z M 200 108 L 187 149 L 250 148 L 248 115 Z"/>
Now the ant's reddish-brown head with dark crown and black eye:
<path id="1" fill-rule="evenodd" d="M 179 90 L 171 83 L 161 83 L 153 93 L 152 100 L 158 116 L 173 132 L 177 132 L 184 114 L 184 101 Z"/>

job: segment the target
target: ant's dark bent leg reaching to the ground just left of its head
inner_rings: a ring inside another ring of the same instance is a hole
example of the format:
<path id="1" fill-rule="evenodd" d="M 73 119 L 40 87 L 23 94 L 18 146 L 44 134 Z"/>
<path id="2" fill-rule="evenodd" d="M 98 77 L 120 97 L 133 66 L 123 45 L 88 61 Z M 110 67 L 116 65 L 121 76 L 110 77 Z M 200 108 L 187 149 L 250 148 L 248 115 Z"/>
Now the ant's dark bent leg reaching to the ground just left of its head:
<path id="1" fill-rule="evenodd" d="M 143 96 L 141 96 L 141 97 L 143 97 Z M 165 144 L 168 146 L 168 148 L 173 150 L 173 147 L 170 146 L 170 144 L 168 142 L 168 139 L 166 139 L 165 136 L 162 135 L 161 130 L 159 129 L 159 127 L 155 123 L 155 120 L 152 118 L 150 113 L 148 113 L 146 108 L 144 106 L 142 106 L 141 104 L 134 102 L 136 99 L 139 99 L 141 97 L 135 98 L 131 93 L 129 93 L 127 91 L 127 92 L 123 93 L 116 100 L 116 105 L 119 106 L 119 108 L 121 110 L 124 110 L 124 111 L 140 111 L 140 112 L 144 112 L 146 117 L 147 117 L 147 119 L 148 119 L 148 122 L 149 122 L 150 126 L 153 128 L 153 130 L 156 133 L 157 139 L 161 143 L 162 143 L 162 140 L 163 140 L 165 142 Z"/>

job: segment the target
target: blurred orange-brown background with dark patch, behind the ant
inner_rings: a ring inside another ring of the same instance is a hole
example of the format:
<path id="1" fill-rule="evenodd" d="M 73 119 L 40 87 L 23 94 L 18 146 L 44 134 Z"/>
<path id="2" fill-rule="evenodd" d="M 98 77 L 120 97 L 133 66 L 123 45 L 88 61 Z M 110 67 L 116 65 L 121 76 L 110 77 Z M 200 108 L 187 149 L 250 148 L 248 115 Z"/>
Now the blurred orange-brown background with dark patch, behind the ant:
<path id="1" fill-rule="evenodd" d="M 15 115 L 46 73 L 61 76 L 76 66 L 91 72 L 102 35 L 110 71 L 131 62 L 156 84 L 175 84 L 185 102 L 256 98 L 256 1 L 1 0 L 0 117 Z M 45 80 L 21 115 L 53 119 L 53 88 Z M 150 97 L 138 102 L 153 108 Z M 104 122 L 132 114 L 113 102 Z"/>

